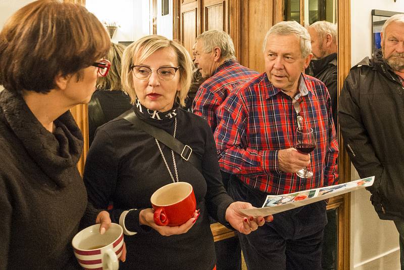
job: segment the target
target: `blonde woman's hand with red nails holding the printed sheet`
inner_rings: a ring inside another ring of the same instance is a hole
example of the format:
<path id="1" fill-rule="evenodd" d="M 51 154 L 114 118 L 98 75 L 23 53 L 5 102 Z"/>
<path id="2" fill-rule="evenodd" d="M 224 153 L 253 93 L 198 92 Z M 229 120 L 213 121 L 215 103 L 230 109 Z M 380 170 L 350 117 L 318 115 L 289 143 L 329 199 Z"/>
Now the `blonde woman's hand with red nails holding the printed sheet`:
<path id="1" fill-rule="evenodd" d="M 271 222 L 274 220 L 272 215 L 263 216 L 246 216 L 241 213 L 239 209 L 249 209 L 255 208 L 248 202 L 233 202 L 226 209 L 226 220 L 230 225 L 242 234 L 250 234 L 258 229 L 258 227 L 263 226 L 265 221 Z"/>

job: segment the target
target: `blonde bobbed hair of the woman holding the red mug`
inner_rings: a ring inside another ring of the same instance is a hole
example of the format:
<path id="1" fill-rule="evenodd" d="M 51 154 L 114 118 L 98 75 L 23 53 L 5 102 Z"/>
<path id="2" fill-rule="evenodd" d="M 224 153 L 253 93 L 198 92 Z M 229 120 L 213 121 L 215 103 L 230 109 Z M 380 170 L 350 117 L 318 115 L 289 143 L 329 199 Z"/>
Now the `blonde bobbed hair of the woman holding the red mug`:
<path id="1" fill-rule="evenodd" d="M 143 62 L 150 55 L 163 48 L 171 48 L 177 55 L 178 72 L 180 72 L 180 91 L 176 93 L 176 102 L 185 106 L 185 98 L 192 79 L 192 60 L 188 51 L 179 43 L 161 35 L 144 36 L 130 44 L 122 57 L 121 79 L 123 89 L 130 96 L 131 102 L 136 99 L 133 85 L 131 65 Z"/>

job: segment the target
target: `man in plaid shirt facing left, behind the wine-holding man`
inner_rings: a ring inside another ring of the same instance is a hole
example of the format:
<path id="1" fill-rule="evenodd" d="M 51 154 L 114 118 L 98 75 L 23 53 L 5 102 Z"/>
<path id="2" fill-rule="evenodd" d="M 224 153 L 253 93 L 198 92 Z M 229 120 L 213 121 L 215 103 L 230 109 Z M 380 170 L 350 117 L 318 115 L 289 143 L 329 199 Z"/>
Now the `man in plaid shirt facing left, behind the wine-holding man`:
<path id="1" fill-rule="evenodd" d="M 196 92 L 193 113 L 203 116 L 214 132 L 219 106 L 237 86 L 258 72 L 237 62 L 233 41 L 221 30 L 209 30 L 196 38 L 194 63 L 206 80 Z M 229 177 L 229 174 L 222 173 L 226 189 Z M 218 270 L 241 270 L 241 249 L 237 238 L 216 242 L 215 248 Z"/>

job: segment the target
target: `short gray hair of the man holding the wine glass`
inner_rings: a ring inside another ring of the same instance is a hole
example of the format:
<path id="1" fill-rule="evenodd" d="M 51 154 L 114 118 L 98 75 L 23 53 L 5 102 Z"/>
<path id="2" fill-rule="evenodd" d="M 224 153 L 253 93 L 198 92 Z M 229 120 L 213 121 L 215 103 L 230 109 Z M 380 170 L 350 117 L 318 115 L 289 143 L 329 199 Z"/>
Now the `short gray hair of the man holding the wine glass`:
<path id="1" fill-rule="evenodd" d="M 271 34 L 276 35 L 295 34 L 297 37 L 300 38 L 301 57 L 306 58 L 312 52 L 312 43 L 309 32 L 305 27 L 301 26 L 299 23 L 295 21 L 279 22 L 269 29 L 264 39 L 263 44 L 264 53 L 265 53 L 265 47 L 267 45 L 268 36 Z"/>

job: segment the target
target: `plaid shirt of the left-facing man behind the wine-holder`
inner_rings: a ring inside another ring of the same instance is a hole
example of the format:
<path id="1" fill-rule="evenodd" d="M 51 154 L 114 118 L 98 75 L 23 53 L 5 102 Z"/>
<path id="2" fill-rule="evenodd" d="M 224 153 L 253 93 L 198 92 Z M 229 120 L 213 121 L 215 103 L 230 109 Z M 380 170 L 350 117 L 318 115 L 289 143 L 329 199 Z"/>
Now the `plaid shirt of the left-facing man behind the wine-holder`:
<path id="1" fill-rule="evenodd" d="M 258 72 L 240 65 L 234 59 L 225 61 L 199 86 L 193 101 L 193 113 L 204 117 L 214 132 L 217 126 L 218 107 L 230 92 L 255 75 L 258 75 Z"/>

